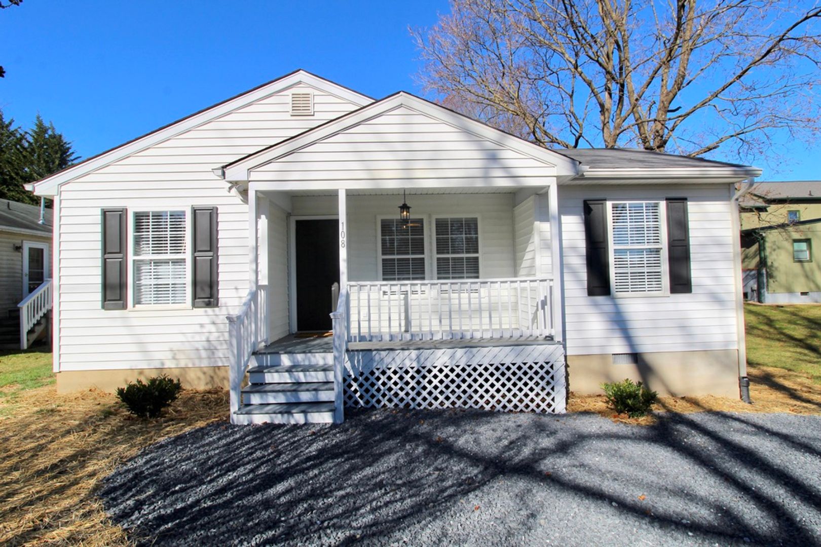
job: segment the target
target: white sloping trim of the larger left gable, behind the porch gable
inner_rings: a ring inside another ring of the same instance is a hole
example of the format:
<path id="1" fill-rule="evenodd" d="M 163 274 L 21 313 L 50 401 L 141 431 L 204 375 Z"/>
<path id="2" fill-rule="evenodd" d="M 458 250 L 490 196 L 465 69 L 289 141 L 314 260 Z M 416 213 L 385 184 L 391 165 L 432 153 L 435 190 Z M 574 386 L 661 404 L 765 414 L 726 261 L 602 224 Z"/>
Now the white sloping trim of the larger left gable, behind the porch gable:
<path id="1" fill-rule="evenodd" d="M 347 101 L 359 106 L 364 106 L 366 104 L 373 103 L 374 101 L 373 98 L 370 98 L 367 95 L 363 95 L 362 93 L 358 93 L 340 84 L 336 84 L 330 80 L 325 80 L 318 75 L 314 75 L 308 71 L 300 69 L 293 71 L 290 74 L 281 76 L 275 80 L 258 85 L 257 87 L 235 95 L 232 98 L 227 98 L 224 101 L 213 104 L 210 107 L 206 107 L 177 121 L 172 121 L 170 124 L 163 125 L 156 130 L 150 131 L 149 133 L 135 139 L 131 139 L 126 143 L 120 144 L 119 146 L 111 148 L 103 153 L 99 153 L 96 156 L 88 157 L 82 162 L 69 166 L 62 171 L 57 171 L 57 173 L 38 180 L 33 184 L 25 185 L 25 189 L 33 191 L 37 195 L 54 195 L 57 193 L 57 187 L 59 185 L 76 179 L 78 176 L 85 175 L 86 173 L 106 166 L 109 163 L 116 162 L 117 160 L 129 156 L 132 153 L 139 152 L 140 150 L 162 142 L 163 140 L 170 139 L 177 134 L 193 129 L 197 125 L 204 124 L 219 116 L 224 116 L 228 112 L 232 112 L 237 108 L 254 103 L 260 98 L 267 97 L 273 93 L 278 93 L 283 89 L 288 89 L 296 84 L 310 85 L 326 93 L 337 95 L 337 97 L 346 99 Z"/>

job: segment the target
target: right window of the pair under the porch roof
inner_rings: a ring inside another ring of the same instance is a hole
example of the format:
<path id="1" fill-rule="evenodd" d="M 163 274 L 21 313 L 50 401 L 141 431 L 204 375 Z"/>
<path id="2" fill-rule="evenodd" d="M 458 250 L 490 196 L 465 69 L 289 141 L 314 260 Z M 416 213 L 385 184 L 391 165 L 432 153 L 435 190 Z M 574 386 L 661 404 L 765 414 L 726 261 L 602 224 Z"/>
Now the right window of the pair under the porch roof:
<path id="1" fill-rule="evenodd" d="M 479 219 L 437 218 L 436 278 L 479 279 Z"/>

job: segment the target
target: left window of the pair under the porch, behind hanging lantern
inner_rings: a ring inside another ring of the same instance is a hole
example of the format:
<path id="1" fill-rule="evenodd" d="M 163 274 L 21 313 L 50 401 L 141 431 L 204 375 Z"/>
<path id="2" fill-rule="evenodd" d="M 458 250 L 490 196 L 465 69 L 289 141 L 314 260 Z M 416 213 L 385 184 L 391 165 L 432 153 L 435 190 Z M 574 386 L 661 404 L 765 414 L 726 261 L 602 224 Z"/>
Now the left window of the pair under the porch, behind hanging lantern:
<path id="1" fill-rule="evenodd" d="M 379 239 L 383 281 L 424 280 L 424 220 L 383 218 Z"/>

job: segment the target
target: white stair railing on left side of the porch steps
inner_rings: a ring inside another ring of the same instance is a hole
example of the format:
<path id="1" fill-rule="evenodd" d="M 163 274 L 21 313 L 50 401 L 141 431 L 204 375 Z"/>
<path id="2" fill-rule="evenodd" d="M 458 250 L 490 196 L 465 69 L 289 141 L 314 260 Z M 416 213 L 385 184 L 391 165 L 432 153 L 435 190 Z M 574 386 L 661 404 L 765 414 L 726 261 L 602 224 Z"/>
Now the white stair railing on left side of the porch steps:
<path id="1" fill-rule="evenodd" d="M 249 291 L 236 315 L 227 316 L 228 320 L 228 352 L 231 360 L 228 367 L 228 382 L 230 385 L 231 419 L 240 409 L 242 382 L 245 380 L 245 371 L 256 349 L 265 344 L 266 297 L 267 287 L 259 285 Z"/>

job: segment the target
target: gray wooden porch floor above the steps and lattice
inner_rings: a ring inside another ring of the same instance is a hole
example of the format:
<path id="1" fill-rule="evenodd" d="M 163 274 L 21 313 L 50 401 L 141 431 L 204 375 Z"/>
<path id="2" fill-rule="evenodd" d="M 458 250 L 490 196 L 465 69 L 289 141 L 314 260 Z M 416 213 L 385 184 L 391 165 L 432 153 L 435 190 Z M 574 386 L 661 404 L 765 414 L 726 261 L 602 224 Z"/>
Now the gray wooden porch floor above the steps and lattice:
<path id="1" fill-rule="evenodd" d="M 349 342 L 348 351 L 389 349 L 456 349 L 490 348 L 493 346 L 556 344 L 552 337 L 475 338 L 470 340 L 393 340 L 391 342 Z M 333 336 L 297 338 L 287 335 L 274 340 L 257 353 L 329 353 L 333 352 Z"/>

